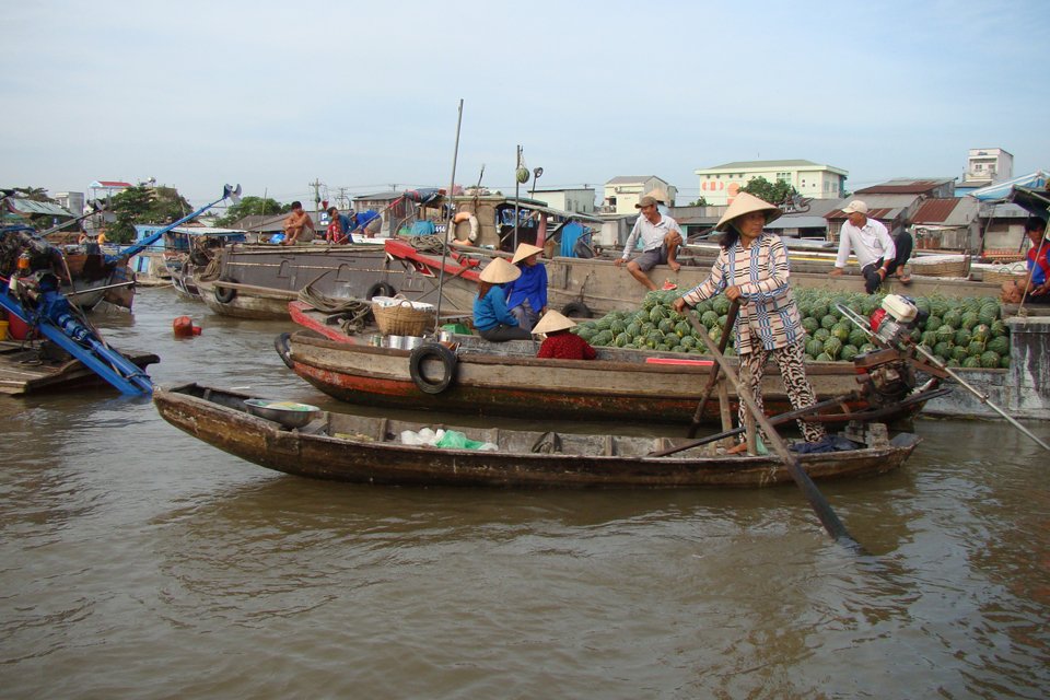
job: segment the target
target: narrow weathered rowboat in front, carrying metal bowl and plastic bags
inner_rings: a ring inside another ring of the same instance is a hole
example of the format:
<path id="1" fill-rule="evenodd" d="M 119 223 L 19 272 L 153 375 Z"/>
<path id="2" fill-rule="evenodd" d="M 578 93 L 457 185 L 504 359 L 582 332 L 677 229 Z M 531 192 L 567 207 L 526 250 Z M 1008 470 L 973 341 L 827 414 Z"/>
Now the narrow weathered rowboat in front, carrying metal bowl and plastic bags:
<path id="1" fill-rule="evenodd" d="M 699 447 L 649 456 L 676 444 L 667 438 L 446 428 L 498 446 L 488 452 L 399 443 L 402 431 L 420 425 L 387 418 L 322 411 L 302 429 L 288 429 L 249 413 L 250 398 L 197 384 L 153 394 L 161 417 L 198 440 L 269 469 L 317 479 L 533 488 L 761 488 L 792 480 L 772 456 L 711 456 Z M 814 480 L 867 477 L 898 468 L 918 444 L 915 435 L 902 433 L 860 450 L 802 455 L 800 462 Z"/>

